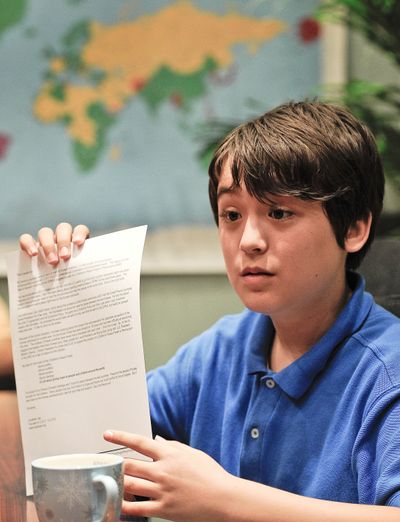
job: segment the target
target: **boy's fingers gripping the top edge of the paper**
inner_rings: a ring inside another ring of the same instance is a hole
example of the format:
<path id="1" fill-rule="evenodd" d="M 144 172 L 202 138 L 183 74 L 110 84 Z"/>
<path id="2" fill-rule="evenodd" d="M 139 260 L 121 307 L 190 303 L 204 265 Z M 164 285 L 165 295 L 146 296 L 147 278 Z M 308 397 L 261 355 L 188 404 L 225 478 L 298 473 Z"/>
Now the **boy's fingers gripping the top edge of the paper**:
<path id="1" fill-rule="evenodd" d="M 82 246 L 88 237 L 89 229 L 86 225 L 77 225 L 73 229 L 69 223 L 60 223 L 55 231 L 48 227 L 41 228 L 37 240 L 30 234 L 22 234 L 19 244 L 21 250 L 30 256 L 36 256 L 39 247 L 42 247 L 47 262 L 57 265 L 60 259 L 65 261 L 71 257 L 71 243 Z"/>

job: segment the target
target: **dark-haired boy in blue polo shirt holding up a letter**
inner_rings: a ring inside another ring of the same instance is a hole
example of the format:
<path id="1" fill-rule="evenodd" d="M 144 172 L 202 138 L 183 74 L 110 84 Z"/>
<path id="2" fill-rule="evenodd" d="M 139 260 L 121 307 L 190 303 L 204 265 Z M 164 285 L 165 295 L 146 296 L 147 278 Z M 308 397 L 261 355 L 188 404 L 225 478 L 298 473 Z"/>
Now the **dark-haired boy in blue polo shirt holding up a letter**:
<path id="1" fill-rule="evenodd" d="M 182 522 L 399 521 L 400 321 L 354 272 L 383 201 L 370 132 L 343 108 L 282 105 L 232 131 L 209 176 L 246 310 L 149 373 L 156 440 L 106 432 L 153 459 L 127 462 L 126 492 L 149 500 L 125 511 Z M 55 235 L 42 229 L 39 243 L 56 264 L 87 234 L 62 224 Z M 21 246 L 37 252 L 29 235 Z"/>

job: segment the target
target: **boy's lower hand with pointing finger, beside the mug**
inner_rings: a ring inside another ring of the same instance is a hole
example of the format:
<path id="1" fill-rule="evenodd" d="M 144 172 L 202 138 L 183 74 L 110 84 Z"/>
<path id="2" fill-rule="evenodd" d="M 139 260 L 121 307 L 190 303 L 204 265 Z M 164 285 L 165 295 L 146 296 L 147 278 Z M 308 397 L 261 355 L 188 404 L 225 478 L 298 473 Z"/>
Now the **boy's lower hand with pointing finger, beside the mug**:
<path id="1" fill-rule="evenodd" d="M 123 431 L 107 431 L 104 438 L 153 459 L 152 462 L 125 459 L 125 498 L 133 494 L 149 500 L 124 501 L 124 513 L 175 522 L 218 517 L 224 504 L 223 491 L 231 488 L 233 477 L 204 452 L 180 442 L 159 437 L 152 440 Z"/>

